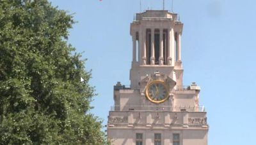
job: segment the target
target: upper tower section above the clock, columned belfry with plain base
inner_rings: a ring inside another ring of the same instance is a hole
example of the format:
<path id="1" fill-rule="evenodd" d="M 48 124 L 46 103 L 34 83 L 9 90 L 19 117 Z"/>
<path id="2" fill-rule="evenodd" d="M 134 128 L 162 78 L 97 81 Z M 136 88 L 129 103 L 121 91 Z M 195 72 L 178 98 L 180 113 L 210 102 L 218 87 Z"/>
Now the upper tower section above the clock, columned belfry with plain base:
<path id="1" fill-rule="evenodd" d="M 182 85 L 182 28 L 183 24 L 178 20 L 178 15 L 167 10 L 136 13 L 136 18 L 131 23 L 132 88 L 138 88 L 138 83 L 144 76 L 156 71 L 177 81 L 177 85 Z"/>

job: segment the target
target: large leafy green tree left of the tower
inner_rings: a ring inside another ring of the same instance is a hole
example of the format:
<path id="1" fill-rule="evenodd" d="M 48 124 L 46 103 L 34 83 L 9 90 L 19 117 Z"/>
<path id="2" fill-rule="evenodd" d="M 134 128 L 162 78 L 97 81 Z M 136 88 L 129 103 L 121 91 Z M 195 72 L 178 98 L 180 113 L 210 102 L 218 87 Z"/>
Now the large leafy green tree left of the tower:
<path id="1" fill-rule="evenodd" d="M 72 24 L 47 0 L 0 0 L 0 144 L 106 143 Z"/>

